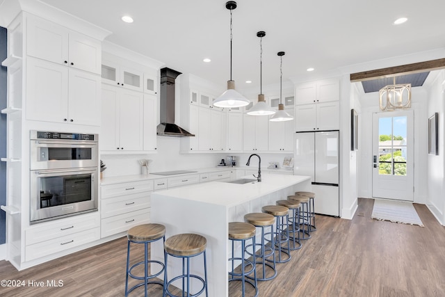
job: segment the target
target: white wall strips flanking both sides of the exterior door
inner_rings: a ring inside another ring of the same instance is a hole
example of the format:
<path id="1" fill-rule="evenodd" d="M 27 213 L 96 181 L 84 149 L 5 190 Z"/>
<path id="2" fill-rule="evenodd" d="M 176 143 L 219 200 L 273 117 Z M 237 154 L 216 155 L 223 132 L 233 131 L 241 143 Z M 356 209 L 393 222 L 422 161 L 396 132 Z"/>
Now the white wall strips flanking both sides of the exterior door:
<path id="1" fill-rule="evenodd" d="M 425 87 L 412 88 L 412 111 L 414 111 L 414 202 L 425 203 L 427 183 L 426 143 L 426 101 L 428 93 Z M 359 122 L 359 197 L 372 197 L 372 126 L 373 113 L 380 112 L 378 93 L 367 93 L 360 97 L 362 113 Z"/>

